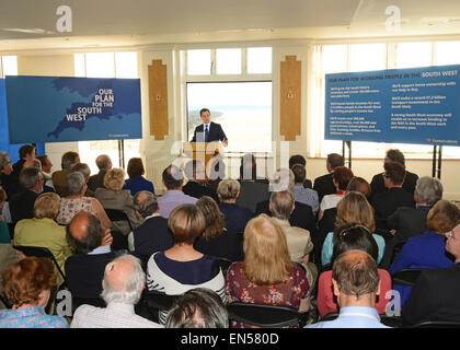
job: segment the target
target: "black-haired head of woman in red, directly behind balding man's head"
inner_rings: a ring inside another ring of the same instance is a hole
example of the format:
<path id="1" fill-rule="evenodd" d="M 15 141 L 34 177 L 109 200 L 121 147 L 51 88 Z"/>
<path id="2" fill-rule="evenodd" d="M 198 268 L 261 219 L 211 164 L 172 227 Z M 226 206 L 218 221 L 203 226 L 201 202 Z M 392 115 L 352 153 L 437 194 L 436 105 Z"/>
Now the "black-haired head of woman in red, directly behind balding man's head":
<path id="1" fill-rule="evenodd" d="M 336 240 L 332 253 L 331 262 L 341 254 L 348 250 L 363 250 L 369 254 L 376 261 L 379 255 L 379 247 L 369 229 L 361 224 L 349 223 L 336 228 Z"/>

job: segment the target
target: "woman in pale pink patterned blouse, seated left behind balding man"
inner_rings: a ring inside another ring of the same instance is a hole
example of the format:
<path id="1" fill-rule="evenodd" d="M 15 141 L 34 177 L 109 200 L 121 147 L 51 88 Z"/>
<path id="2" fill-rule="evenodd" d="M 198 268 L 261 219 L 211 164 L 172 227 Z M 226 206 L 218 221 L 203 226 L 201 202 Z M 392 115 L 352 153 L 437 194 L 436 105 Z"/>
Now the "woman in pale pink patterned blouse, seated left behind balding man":
<path id="1" fill-rule="evenodd" d="M 69 195 L 60 199 L 59 213 L 56 217 L 57 223 L 67 225 L 77 213 L 88 211 L 101 220 L 104 229 L 112 228 L 112 222 L 100 201 L 96 198 L 84 197 L 87 182 L 80 172 L 69 174 L 66 184 Z"/>

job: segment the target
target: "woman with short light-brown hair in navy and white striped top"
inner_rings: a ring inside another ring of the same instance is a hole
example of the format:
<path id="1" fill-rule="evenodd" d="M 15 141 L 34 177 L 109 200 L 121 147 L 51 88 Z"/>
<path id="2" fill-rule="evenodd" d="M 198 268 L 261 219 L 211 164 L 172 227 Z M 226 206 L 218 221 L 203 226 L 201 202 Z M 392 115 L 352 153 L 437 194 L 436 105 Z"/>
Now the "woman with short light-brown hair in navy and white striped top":
<path id="1" fill-rule="evenodd" d="M 160 207 L 161 208 L 161 207 Z M 179 295 L 194 288 L 209 288 L 226 302 L 225 278 L 210 256 L 193 247 L 196 238 L 205 230 L 205 218 L 195 205 L 176 207 L 168 220 L 173 234 L 172 248 L 154 253 L 147 265 L 147 285 L 149 290 L 168 295 Z M 164 324 L 166 313 L 160 312 L 159 319 Z"/>

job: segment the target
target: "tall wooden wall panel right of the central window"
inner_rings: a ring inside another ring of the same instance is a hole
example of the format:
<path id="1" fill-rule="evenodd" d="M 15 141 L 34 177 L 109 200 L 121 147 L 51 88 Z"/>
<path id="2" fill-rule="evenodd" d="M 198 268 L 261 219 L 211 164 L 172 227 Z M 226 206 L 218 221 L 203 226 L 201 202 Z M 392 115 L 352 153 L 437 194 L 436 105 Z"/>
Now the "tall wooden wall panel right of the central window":
<path id="1" fill-rule="evenodd" d="M 279 91 L 279 131 L 285 141 L 295 141 L 301 120 L 301 61 L 296 56 L 286 56 L 280 62 Z"/>

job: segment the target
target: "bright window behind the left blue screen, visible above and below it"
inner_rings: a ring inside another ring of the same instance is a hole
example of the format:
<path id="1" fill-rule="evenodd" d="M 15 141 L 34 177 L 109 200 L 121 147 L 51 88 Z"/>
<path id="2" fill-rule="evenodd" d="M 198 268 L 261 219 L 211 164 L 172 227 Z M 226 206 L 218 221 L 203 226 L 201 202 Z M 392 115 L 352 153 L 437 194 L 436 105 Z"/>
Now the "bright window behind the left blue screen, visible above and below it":
<path id="1" fill-rule="evenodd" d="M 137 52 L 94 52 L 74 55 L 76 77 L 84 78 L 138 78 Z M 108 154 L 114 167 L 119 167 L 118 140 L 79 141 L 81 161 L 88 163 L 91 173 L 99 172 L 95 159 Z M 139 156 L 140 140 L 124 140 L 125 163 Z"/>

